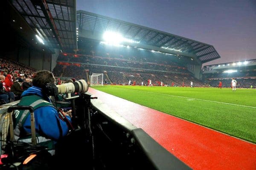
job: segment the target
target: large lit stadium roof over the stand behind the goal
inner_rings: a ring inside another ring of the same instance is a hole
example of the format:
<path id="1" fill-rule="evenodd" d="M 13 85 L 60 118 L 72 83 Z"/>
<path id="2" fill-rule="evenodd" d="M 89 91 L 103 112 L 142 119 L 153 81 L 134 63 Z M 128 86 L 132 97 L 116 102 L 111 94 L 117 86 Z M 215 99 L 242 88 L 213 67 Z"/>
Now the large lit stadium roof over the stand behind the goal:
<path id="1" fill-rule="evenodd" d="M 162 51 L 182 56 L 193 56 L 202 63 L 220 58 L 212 45 L 158 31 L 145 26 L 128 23 L 122 20 L 105 17 L 87 11 L 77 11 L 77 27 L 79 30 L 105 32 L 114 31 L 125 38 L 139 41 L 140 44 L 161 48 Z M 83 37 L 79 34 L 79 37 Z M 86 38 L 84 36 L 84 38 Z M 137 45 L 139 46 L 139 45 Z M 169 48 L 170 50 L 166 50 Z M 172 50 L 171 50 L 172 49 Z"/>

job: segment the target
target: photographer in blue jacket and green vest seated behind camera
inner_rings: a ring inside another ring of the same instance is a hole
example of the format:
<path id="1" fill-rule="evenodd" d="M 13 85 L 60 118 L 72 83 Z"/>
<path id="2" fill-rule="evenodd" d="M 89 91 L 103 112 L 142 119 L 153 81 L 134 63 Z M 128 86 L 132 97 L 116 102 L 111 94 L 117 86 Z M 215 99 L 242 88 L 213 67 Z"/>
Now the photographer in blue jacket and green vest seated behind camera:
<path id="1" fill-rule="evenodd" d="M 71 110 L 61 115 L 51 103 L 47 95 L 46 85 L 55 83 L 55 78 L 50 71 L 38 71 L 33 79 L 33 86 L 28 88 L 21 95 L 19 106 L 32 106 L 35 111 L 35 130 L 39 144 L 47 145 L 53 155 L 54 146 L 58 139 L 66 136 L 70 131 Z M 15 114 L 15 140 L 30 142 L 28 139 L 31 133 L 29 111 L 17 111 Z"/>

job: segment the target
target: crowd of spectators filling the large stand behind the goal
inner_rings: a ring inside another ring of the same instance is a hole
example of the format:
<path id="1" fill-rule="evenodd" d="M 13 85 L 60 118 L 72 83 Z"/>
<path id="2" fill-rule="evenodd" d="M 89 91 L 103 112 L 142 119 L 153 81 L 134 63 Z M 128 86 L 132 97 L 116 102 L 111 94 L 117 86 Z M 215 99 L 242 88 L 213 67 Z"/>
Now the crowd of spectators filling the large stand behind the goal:
<path id="1" fill-rule="evenodd" d="M 123 51 L 87 51 L 84 54 L 65 54 L 58 57 L 59 63 L 79 63 L 80 67 L 73 65 L 60 65 L 54 69 L 54 74 L 63 77 L 79 77 L 84 75 L 84 70 L 91 73 L 108 72 L 110 82 L 113 84 L 128 84 L 128 81 L 136 82 L 136 85 L 145 85 L 151 79 L 153 85 L 162 81 L 165 85 L 175 84 L 186 86 L 194 82 L 194 86 L 201 87 L 203 83 L 192 76 L 183 65 L 171 61 L 168 57 L 147 53 L 147 56 L 137 55 L 140 51 L 132 54 Z M 137 56 L 135 56 L 135 54 Z M 157 54 L 158 55 L 158 54 Z M 140 57 L 138 57 L 140 56 Z M 105 78 L 104 78 L 105 79 Z"/>

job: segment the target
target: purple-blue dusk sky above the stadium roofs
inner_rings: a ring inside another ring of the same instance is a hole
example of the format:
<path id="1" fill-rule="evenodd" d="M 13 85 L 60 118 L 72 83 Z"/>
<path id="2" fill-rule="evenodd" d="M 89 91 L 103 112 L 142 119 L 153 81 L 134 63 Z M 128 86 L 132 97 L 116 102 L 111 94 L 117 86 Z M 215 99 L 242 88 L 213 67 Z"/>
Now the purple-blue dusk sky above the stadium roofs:
<path id="1" fill-rule="evenodd" d="M 213 45 L 220 59 L 256 59 L 256 0 L 76 0 L 76 9 Z"/>

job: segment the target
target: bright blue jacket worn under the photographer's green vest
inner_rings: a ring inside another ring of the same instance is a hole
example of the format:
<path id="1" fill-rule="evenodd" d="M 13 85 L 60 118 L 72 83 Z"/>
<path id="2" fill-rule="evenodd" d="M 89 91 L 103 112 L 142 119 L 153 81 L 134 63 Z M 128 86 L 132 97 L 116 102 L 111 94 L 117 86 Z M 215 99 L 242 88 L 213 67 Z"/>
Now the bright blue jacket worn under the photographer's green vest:
<path id="1" fill-rule="evenodd" d="M 37 95 L 43 97 L 47 102 L 51 103 L 49 97 L 45 97 L 42 94 L 42 89 L 32 86 L 24 91 L 21 95 L 21 100 L 23 96 Z M 41 108 L 37 108 L 34 111 L 35 114 L 35 130 L 37 133 L 43 134 L 53 140 L 60 139 L 60 128 L 62 129 L 62 136 L 66 136 L 69 132 L 69 128 L 67 123 L 59 118 L 58 112 L 55 108 L 51 106 L 44 106 Z M 67 119 L 71 122 L 70 116 L 66 116 Z M 30 130 L 30 114 L 26 118 L 23 128 L 27 133 L 31 133 Z"/>

